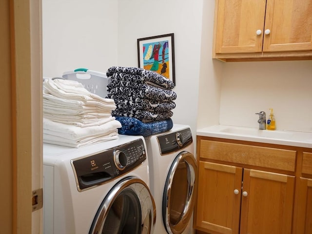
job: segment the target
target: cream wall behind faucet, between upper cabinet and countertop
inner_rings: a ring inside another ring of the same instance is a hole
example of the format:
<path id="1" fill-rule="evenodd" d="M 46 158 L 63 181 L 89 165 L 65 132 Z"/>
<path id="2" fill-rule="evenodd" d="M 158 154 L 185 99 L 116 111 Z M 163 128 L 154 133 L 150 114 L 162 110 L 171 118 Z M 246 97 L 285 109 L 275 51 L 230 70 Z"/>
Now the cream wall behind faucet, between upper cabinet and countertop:
<path id="1" fill-rule="evenodd" d="M 277 130 L 312 132 L 312 61 L 223 63 L 219 123 L 258 127 L 274 109 Z"/>

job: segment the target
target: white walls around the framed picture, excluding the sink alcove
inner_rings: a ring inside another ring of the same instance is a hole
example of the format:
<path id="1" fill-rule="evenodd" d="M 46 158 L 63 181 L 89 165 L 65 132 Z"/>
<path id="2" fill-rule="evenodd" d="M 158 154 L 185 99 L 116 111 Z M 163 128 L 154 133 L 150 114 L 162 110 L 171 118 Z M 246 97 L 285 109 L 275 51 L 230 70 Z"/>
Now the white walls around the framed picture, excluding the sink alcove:
<path id="1" fill-rule="evenodd" d="M 42 8 L 44 77 L 78 67 L 137 67 L 137 39 L 174 33 L 172 119 L 190 125 L 195 137 L 202 0 L 43 0 Z"/>

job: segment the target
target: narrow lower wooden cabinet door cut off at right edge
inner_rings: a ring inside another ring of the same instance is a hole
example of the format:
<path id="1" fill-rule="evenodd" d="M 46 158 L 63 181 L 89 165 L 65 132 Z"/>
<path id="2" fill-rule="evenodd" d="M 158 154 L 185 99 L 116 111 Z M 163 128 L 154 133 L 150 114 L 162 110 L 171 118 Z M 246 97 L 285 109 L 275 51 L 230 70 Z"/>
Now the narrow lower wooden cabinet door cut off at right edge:
<path id="1" fill-rule="evenodd" d="M 294 234 L 312 233 L 312 179 L 299 179 L 299 193 L 295 206 Z"/>

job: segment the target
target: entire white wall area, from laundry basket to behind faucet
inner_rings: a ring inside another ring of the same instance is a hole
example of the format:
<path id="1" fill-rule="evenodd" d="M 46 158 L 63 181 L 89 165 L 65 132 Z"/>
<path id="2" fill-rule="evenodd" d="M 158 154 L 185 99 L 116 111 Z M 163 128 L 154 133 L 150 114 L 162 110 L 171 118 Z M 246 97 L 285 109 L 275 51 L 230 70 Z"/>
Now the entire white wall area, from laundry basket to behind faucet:
<path id="1" fill-rule="evenodd" d="M 274 109 L 277 129 L 312 132 L 312 61 L 212 59 L 215 0 L 42 0 L 43 76 L 78 67 L 137 66 L 137 39 L 175 34 L 173 121 L 257 127 Z"/>

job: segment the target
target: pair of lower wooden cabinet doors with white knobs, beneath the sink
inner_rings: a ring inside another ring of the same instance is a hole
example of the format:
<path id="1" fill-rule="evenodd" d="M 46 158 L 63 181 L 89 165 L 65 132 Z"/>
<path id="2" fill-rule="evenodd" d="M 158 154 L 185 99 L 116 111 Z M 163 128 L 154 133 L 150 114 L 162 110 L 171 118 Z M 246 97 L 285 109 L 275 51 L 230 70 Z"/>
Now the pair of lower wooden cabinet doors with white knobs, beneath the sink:
<path id="1" fill-rule="evenodd" d="M 196 228 L 210 234 L 291 234 L 294 181 L 199 161 Z"/>

